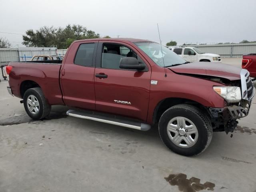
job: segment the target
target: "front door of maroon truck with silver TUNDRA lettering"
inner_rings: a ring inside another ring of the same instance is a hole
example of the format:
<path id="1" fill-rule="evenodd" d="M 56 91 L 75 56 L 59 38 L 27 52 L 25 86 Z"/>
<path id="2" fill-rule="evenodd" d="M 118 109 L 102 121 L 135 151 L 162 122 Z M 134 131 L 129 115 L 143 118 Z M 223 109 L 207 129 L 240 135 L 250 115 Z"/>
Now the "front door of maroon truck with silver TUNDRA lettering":
<path id="1" fill-rule="evenodd" d="M 135 57 L 147 67 L 141 72 L 121 69 L 122 57 Z M 150 65 L 132 46 L 99 42 L 94 76 L 96 110 L 146 121 L 150 76 Z"/>

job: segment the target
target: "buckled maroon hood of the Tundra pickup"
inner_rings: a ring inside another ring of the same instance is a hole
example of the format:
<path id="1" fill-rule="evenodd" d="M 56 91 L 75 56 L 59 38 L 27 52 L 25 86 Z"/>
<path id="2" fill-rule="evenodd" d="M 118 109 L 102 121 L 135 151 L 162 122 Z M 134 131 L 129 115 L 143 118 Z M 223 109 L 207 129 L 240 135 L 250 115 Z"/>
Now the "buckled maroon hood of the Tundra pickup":
<path id="1" fill-rule="evenodd" d="M 212 62 L 193 62 L 168 68 L 178 74 L 215 76 L 226 78 L 231 81 L 240 79 L 241 72 L 241 68 L 228 64 Z"/>

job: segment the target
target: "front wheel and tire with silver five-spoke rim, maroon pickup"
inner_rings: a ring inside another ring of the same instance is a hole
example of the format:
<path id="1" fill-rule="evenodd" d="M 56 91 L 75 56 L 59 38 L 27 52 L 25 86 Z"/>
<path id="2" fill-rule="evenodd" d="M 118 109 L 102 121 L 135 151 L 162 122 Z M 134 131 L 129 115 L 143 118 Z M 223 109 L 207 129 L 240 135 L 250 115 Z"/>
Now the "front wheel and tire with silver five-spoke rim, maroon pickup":
<path id="1" fill-rule="evenodd" d="M 175 105 L 166 110 L 160 118 L 158 130 L 164 144 L 184 156 L 202 153 L 212 140 L 209 118 L 199 108 L 188 104 Z"/>

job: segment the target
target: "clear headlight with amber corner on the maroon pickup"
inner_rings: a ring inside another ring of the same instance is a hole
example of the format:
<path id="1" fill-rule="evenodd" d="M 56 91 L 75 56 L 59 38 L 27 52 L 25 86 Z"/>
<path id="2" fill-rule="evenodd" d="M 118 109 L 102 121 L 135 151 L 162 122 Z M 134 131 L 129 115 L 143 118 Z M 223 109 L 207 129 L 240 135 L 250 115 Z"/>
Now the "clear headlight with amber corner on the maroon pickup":
<path id="1" fill-rule="evenodd" d="M 239 102 L 242 99 L 240 87 L 214 86 L 213 89 L 227 102 Z"/>

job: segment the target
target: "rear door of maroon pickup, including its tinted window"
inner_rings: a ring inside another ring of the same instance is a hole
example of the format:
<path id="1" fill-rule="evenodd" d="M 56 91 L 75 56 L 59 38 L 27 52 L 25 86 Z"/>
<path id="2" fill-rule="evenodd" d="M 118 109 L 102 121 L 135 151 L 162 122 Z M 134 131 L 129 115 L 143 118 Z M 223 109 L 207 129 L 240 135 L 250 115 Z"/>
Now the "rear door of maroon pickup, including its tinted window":
<path id="1" fill-rule="evenodd" d="M 95 110 L 94 70 L 98 41 L 72 45 L 60 70 L 60 82 L 67 106 Z"/>

